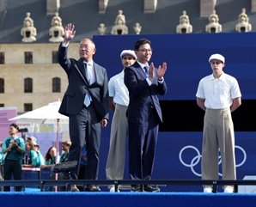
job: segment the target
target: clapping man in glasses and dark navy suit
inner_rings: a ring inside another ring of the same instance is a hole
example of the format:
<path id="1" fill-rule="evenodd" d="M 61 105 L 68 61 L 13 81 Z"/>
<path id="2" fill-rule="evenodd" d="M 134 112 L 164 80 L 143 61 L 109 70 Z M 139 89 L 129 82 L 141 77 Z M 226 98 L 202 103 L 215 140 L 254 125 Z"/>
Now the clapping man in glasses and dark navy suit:
<path id="1" fill-rule="evenodd" d="M 162 111 L 157 95 L 167 93 L 163 75 L 167 64 L 157 69 L 149 65 L 152 56 L 150 41 L 137 40 L 134 49 L 137 62 L 125 68 L 125 85 L 130 103 L 127 109 L 129 126 L 129 174 L 131 180 L 150 180 L 155 159 L 155 146 Z M 143 186 L 145 192 L 159 192 L 158 187 Z M 139 186 L 132 186 L 139 192 Z"/>

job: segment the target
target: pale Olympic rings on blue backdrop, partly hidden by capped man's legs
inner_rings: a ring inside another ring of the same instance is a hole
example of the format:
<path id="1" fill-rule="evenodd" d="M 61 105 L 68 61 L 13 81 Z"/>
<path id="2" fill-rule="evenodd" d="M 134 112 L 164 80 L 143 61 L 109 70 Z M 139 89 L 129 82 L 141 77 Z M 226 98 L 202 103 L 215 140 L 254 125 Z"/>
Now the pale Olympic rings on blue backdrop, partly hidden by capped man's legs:
<path id="1" fill-rule="evenodd" d="M 241 148 L 240 146 L 235 146 L 235 148 L 240 149 L 242 154 L 243 154 L 243 157 L 244 157 L 243 160 L 241 161 L 241 163 L 235 165 L 235 167 L 241 167 L 247 161 L 247 153 L 246 153 L 245 149 Z M 197 155 L 192 158 L 192 161 L 190 163 L 186 163 L 185 161 L 182 160 L 182 153 L 185 149 L 194 149 L 197 153 Z M 192 146 L 192 145 L 187 145 L 184 148 L 180 149 L 179 159 L 180 159 L 181 164 L 184 165 L 185 167 L 190 167 L 192 173 L 197 175 L 198 177 L 201 177 L 202 174 L 198 174 L 194 170 L 194 167 L 198 164 L 201 157 L 202 157 L 202 155 L 200 154 L 199 150 L 196 147 Z M 219 159 L 218 164 L 220 165 L 222 163 L 221 155 L 219 155 L 218 159 Z M 221 173 L 219 173 L 219 175 L 222 176 Z"/>

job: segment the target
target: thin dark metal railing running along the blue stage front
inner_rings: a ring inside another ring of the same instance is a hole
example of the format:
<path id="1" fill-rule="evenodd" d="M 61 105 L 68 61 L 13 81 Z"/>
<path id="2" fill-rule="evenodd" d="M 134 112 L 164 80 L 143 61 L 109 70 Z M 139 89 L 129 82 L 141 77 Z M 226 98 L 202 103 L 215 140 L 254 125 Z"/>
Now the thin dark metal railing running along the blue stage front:
<path id="1" fill-rule="evenodd" d="M 115 186 L 118 191 L 119 185 L 139 185 L 143 191 L 143 185 L 155 186 L 213 186 L 216 192 L 217 186 L 235 186 L 235 192 L 238 186 L 256 186 L 256 180 L 0 180 L 0 186 L 39 186 L 40 191 L 44 192 L 45 186 L 66 186 L 70 185 L 86 186 Z"/>

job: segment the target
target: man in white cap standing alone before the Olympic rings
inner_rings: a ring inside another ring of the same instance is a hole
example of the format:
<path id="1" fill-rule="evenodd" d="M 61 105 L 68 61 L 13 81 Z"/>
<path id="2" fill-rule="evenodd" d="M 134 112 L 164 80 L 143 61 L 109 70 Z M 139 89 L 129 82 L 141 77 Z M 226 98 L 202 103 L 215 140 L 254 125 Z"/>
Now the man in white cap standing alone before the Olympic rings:
<path id="1" fill-rule="evenodd" d="M 235 133 L 231 113 L 241 105 L 241 91 L 235 77 L 223 72 L 225 58 L 209 58 L 212 74 L 202 78 L 196 94 L 198 107 L 204 111 L 201 171 L 202 180 L 218 180 L 218 149 L 222 157 L 222 180 L 236 180 Z M 212 192 L 212 186 L 203 186 Z M 222 186 L 234 192 L 234 186 Z"/>

